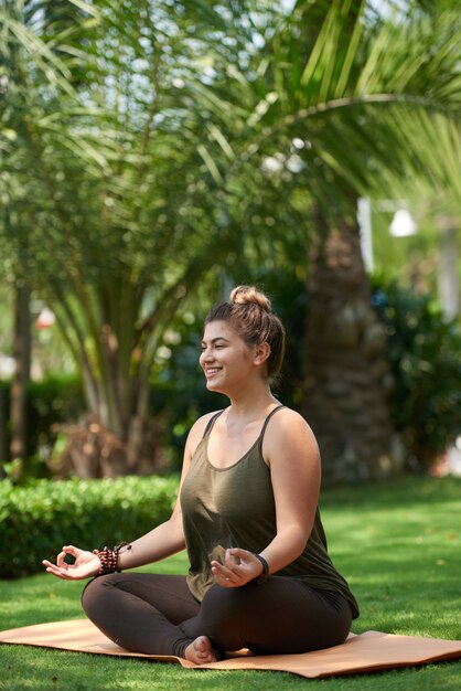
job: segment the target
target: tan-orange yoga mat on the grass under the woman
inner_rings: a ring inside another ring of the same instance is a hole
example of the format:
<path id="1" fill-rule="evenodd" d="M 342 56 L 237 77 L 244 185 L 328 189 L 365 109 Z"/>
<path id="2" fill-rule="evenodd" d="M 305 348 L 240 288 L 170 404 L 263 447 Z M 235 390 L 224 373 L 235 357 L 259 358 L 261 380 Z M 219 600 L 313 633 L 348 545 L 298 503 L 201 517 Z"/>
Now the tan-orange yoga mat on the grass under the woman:
<path id="1" fill-rule="evenodd" d="M 0 642 L 58 648 L 77 652 L 148 658 L 179 662 L 189 669 L 261 669 L 292 672 L 315 679 L 339 674 L 357 674 L 396 667 L 410 667 L 461 659 L 461 640 L 442 640 L 416 636 L 396 636 L 380 631 L 351 634 L 345 644 L 301 655 L 240 655 L 212 662 L 194 665 L 182 658 L 142 655 L 124 650 L 112 644 L 87 619 L 39 624 L 0 631 Z"/>

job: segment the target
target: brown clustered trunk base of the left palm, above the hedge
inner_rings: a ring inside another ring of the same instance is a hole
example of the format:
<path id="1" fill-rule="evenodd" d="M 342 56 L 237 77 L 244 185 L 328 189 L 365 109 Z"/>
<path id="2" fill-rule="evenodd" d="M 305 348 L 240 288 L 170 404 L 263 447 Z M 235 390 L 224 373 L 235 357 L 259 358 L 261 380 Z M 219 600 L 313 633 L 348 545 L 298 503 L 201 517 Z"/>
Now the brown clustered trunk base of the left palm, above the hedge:
<path id="1" fill-rule="evenodd" d="M 63 451 L 49 461 L 55 476 L 151 475 L 165 466 L 162 432 L 148 411 L 149 370 L 140 381 L 130 369 L 131 350 L 120 349 L 119 342 L 104 325 L 97 341 L 97 360 L 104 363 L 99 376 L 92 371 L 88 358 L 79 361 L 87 414 L 78 424 L 54 427 L 54 432 L 65 435 Z"/>

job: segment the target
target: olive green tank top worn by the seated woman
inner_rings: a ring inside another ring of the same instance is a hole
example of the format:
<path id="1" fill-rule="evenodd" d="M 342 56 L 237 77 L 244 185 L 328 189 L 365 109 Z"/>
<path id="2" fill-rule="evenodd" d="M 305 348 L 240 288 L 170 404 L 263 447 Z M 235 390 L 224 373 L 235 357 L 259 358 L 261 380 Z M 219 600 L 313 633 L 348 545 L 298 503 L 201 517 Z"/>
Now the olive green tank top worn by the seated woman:
<path id="1" fill-rule="evenodd" d="M 214 583 L 212 560 L 222 561 L 228 548 L 259 553 L 276 535 L 270 468 L 262 458 L 261 447 L 267 424 L 281 407 L 271 411 L 255 444 L 234 465 L 216 468 L 208 460 L 210 433 L 221 413 L 212 418 L 193 454 L 181 490 L 181 508 L 190 560 L 187 583 L 199 600 Z M 357 603 L 328 554 L 319 509 L 304 551 L 276 575 L 301 578 L 314 588 L 339 592 L 350 602 L 353 617 L 358 616 Z"/>

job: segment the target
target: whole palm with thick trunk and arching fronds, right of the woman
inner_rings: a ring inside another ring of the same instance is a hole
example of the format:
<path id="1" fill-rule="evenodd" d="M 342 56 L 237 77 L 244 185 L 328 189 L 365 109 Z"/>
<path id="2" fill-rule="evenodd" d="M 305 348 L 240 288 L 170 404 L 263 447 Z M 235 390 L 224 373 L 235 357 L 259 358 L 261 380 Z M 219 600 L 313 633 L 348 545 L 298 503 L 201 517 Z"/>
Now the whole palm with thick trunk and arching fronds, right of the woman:
<path id="1" fill-rule="evenodd" d="M 459 191 L 457 9 L 438 3 L 428 15 L 396 3 L 383 18 L 375 4 L 298 0 L 276 18 L 262 7 L 254 14 L 261 51 L 247 71 L 212 85 L 214 123 L 234 152 L 213 166 L 227 189 L 240 179 L 254 194 L 250 204 L 239 196 L 242 227 L 259 240 L 248 212 L 266 205 L 272 221 L 285 220 L 285 247 L 290 226 L 308 237 L 302 408 L 332 481 L 396 470 L 385 333 L 362 261 L 357 196 L 401 195 L 415 177 Z M 225 114 L 236 108 L 229 126 Z"/>

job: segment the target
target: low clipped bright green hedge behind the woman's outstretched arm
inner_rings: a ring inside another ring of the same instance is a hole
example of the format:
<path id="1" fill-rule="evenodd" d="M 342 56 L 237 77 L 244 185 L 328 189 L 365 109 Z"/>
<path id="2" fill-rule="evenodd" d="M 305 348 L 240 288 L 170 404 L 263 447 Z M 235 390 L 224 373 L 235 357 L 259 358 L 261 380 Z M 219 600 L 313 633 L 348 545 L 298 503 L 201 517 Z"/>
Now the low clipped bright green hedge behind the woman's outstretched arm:
<path id="1" fill-rule="evenodd" d="M 64 544 L 83 549 L 135 540 L 171 514 L 176 478 L 0 482 L 0 578 L 43 570 Z"/>

